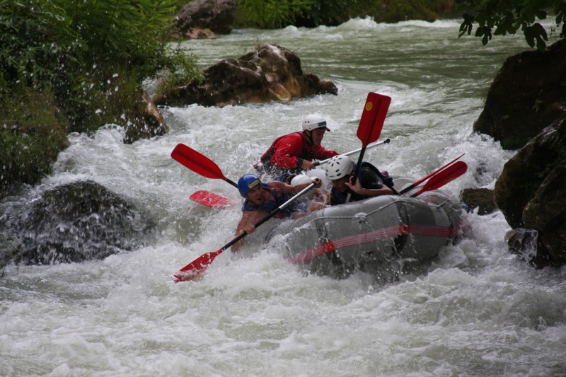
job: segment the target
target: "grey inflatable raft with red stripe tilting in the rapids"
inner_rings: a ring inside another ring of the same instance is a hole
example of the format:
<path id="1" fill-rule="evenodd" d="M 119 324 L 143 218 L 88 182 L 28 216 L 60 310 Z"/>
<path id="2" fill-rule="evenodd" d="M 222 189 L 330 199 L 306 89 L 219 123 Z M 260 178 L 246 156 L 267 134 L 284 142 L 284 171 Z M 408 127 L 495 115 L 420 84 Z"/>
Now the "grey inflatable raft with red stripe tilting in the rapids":
<path id="1" fill-rule="evenodd" d="M 395 180 L 395 187 L 404 183 Z M 282 242 L 289 261 L 311 272 L 342 278 L 362 271 L 391 280 L 408 262 L 432 260 L 455 243 L 462 214 L 460 204 L 439 190 L 383 195 L 285 221 L 268 239 Z"/>

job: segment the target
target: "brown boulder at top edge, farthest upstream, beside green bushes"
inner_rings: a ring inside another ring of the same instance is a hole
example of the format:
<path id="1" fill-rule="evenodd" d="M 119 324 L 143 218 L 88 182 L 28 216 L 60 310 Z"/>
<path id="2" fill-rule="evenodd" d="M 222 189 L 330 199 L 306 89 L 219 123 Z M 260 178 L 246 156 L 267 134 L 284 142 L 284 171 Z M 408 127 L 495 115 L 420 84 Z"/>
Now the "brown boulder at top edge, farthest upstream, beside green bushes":
<path id="1" fill-rule="evenodd" d="M 192 0 L 173 20 L 173 37 L 197 39 L 229 34 L 235 10 L 236 0 Z"/>

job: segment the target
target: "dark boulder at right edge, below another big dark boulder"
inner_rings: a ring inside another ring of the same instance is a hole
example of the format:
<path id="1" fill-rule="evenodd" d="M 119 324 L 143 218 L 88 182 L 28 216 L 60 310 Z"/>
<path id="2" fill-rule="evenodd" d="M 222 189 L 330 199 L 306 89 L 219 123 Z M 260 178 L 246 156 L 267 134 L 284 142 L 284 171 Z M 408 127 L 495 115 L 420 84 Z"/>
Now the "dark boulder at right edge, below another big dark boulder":
<path id="1" fill-rule="evenodd" d="M 509 225 L 535 230 L 538 260 L 553 265 L 566 262 L 565 191 L 566 115 L 505 163 L 494 190 L 495 203 Z M 541 258 L 541 254 L 546 257 Z"/>

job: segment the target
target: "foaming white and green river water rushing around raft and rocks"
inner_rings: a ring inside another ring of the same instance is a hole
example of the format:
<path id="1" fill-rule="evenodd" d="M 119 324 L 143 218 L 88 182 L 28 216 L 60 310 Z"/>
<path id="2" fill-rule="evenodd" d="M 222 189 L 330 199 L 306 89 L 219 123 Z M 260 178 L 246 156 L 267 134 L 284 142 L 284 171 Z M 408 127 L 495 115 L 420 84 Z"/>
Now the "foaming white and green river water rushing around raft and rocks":
<path id="1" fill-rule="evenodd" d="M 461 243 L 392 284 L 306 274 L 277 245 L 260 242 L 219 255 L 204 279 L 173 283 L 180 267 L 231 240 L 241 214 L 237 205 L 213 210 L 188 199 L 209 190 L 239 200 L 223 180 L 173 161 L 178 143 L 237 180 L 275 137 L 317 112 L 332 129 L 323 144 L 351 151 L 375 91 L 392 98 L 381 132 L 391 143 L 366 160 L 417 180 L 466 153 L 468 173 L 443 189 L 492 188 L 514 152 L 473 134 L 472 124 L 504 59 L 528 47 L 519 36 L 482 47 L 457 34 L 458 21 L 352 20 L 186 42 L 202 66 L 262 43 L 287 47 L 339 94 L 166 108 L 171 132 L 133 145 L 122 144 L 119 127 L 69 135 L 54 173 L 11 200 L 91 179 L 151 212 L 158 236 L 105 260 L 8 266 L 0 278 L 0 375 L 564 376 L 566 269 L 536 270 L 510 255 L 499 212 L 466 214 Z"/>

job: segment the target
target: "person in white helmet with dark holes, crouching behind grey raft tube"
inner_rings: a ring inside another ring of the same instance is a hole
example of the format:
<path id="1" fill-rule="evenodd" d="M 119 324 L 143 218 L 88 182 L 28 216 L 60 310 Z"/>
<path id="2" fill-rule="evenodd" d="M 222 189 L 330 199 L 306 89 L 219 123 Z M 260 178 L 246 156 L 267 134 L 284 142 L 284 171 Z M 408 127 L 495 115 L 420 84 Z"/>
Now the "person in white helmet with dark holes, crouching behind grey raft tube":
<path id="1" fill-rule="evenodd" d="M 393 186 L 393 179 L 386 171 L 381 173 L 366 161 L 362 161 L 359 177 L 352 185 L 355 168 L 356 164 L 348 156 L 330 158 L 326 164 L 326 176 L 332 181 L 328 204 L 333 206 L 345 203 L 348 194 L 351 194 L 350 202 L 379 195 L 393 195 L 393 190 L 389 188 Z"/>

